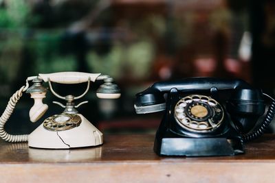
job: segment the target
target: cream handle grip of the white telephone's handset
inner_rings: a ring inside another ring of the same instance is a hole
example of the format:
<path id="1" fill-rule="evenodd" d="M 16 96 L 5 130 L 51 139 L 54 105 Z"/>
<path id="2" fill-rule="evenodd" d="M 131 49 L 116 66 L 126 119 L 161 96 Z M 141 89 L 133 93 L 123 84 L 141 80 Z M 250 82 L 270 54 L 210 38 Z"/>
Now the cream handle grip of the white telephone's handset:
<path id="1" fill-rule="evenodd" d="M 82 73 L 82 72 L 58 72 L 39 74 L 39 77 L 44 82 L 56 82 L 59 84 L 78 84 L 88 82 L 88 79 L 92 82 L 96 81 L 96 78 L 100 73 Z"/>

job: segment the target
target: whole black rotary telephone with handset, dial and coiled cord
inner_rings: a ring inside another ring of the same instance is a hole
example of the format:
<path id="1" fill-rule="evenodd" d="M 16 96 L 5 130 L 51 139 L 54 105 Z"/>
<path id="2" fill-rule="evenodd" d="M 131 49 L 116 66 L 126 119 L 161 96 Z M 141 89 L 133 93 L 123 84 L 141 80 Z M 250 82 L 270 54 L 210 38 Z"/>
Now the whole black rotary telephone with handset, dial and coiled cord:
<path id="1" fill-rule="evenodd" d="M 190 77 L 156 82 L 137 93 L 137 114 L 162 110 L 154 143 L 157 154 L 232 156 L 244 153 L 243 142 L 264 133 L 274 117 L 275 101 L 243 80 Z M 263 122 L 257 123 L 263 114 Z"/>

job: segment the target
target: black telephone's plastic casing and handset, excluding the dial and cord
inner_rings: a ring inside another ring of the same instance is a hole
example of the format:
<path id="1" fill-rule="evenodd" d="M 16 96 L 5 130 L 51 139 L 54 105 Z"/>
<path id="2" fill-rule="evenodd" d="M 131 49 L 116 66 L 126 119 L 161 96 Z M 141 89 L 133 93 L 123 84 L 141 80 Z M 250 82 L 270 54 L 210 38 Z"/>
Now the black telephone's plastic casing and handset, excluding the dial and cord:
<path id="1" fill-rule="evenodd" d="M 168 93 L 164 117 L 155 135 L 154 151 L 162 156 L 232 156 L 244 153 L 243 133 L 252 130 L 265 112 L 261 90 L 243 80 L 191 77 L 176 82 L 157 82 L 137 93 L 136 106 L 163 103 Z M 186 95 L 206 95 L 217 100 L 225 117 L 212 132 L 190 132 L 174 117 L 175 104 Z"/>

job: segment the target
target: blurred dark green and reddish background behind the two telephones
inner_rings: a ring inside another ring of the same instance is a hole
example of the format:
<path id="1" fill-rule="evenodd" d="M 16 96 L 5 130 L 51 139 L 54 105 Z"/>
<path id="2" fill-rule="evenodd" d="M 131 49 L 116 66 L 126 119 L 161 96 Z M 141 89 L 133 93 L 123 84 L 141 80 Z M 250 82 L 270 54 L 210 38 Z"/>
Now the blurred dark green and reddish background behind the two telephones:
<path id="1" fill-rule="evenodd" d="M 98 99 L 94 84 L 76 103 L 104 133 L 155 132 L 162 112 L 135 114 L 135 94 L 153 82 L 184 77 L 238 77 L 275 93 L 275 2 L 237 0 L 0 0 L 0 111 L 38 73 L 80 71 L 111 75 L 120 99 Z M 47 84 L 45 84 L 47 86 Z M 86 84 L 54 85 L 79 95 Z M 63 112 L 44 102 L 48 117 Z M 65 101 L 60 101 L 65 103 Z M 33 104 L 25 94 L 6 127 L 32 132 Z"/>

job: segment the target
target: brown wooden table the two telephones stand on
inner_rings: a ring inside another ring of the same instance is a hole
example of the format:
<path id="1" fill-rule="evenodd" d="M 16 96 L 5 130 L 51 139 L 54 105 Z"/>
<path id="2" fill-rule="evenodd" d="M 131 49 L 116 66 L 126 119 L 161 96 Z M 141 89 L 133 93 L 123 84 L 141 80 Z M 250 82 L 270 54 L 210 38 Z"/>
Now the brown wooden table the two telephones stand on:
<path id="1" fill-rule="evenodd" d="M 153 134 L 104 135 L 95 148 L 47 150 L 0 141 L 0 182 L 275 182 L 275 135 L 245 145 L 246 154 L 165 158 Z"/>

